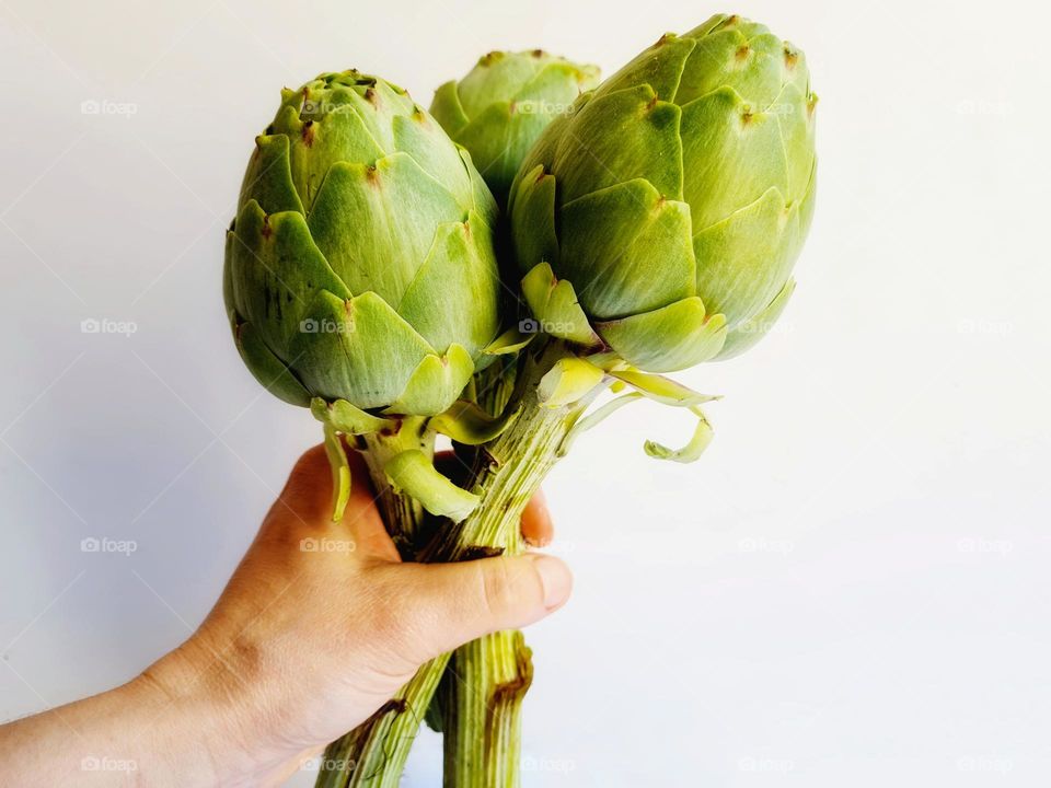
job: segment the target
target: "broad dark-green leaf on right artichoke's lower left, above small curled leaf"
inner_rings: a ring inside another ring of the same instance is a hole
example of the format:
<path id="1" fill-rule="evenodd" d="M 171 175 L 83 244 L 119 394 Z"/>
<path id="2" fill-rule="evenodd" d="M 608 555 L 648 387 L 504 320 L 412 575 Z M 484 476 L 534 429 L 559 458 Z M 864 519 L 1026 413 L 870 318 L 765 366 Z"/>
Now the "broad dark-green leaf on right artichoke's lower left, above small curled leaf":
<path id="1" fill-rule="evenodd" d="M 690 206 L 643 178 L 565 205 L 561 273 L 599 320 L 650 312 L 696 293 Z M 616 221 L 610 221 L 616 217 Z"/>

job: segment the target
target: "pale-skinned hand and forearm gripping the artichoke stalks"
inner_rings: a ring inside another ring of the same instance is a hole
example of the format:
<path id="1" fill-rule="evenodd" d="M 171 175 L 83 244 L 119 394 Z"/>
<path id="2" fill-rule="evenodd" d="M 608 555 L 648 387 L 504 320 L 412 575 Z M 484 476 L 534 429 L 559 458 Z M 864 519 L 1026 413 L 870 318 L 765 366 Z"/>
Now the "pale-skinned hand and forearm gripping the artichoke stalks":
<path id="1" fill-rule="evenodd" d="M 353 462 L 333 523 L 323 449 L 299 460 L 185 644 L 123 686 L 0 727 L 0 784 L 279 785 L 427 660 L 565 603 L 571 576 L 552 556 L 402 563 Z M 522 533 L 550 541 L 542 498 Z"/>

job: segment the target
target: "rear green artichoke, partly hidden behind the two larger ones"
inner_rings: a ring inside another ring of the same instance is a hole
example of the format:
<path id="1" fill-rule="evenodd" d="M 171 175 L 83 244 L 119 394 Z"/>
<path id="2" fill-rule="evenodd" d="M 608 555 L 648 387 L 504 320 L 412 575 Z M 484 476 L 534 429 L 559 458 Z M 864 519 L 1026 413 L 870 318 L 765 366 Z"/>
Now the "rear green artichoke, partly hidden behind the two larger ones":
<path id="1" fill-rule="evenodd" d="M 536 138 L 598 81 L 597 67 L 578 66 L 542 49 L 493 51 L 459 82 L 441 85 L 430 114 L 471 151 L 493 195 L 506 205 Z"/>

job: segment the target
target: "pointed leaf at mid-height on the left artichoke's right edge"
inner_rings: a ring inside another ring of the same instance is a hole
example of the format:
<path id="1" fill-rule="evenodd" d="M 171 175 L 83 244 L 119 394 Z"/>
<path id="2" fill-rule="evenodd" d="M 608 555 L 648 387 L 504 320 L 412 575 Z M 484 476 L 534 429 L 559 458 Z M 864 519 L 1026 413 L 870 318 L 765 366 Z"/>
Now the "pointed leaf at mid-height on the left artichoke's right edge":
<path id="1" fill-rule="evenodd" d="M 467 216 L 438 225 L 397 313 L 435 349 L 459 341 L 474 356 L 499 328 L 500 281 L 492 232 L 474 210 Z"/>

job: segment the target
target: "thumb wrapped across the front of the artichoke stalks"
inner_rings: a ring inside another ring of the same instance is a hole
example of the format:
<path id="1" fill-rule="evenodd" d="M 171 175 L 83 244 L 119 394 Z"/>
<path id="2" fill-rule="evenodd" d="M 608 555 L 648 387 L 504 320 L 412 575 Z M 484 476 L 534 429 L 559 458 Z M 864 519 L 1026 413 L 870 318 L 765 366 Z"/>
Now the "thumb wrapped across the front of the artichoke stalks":
<path id="1" fill-rule="evenodd" d="M 517 629 L 553 613 L 569 598 L 573 575 L 539 553 L 455 564 L 402 564 L 413 588 L 406 611 L 428 660 L 500 629 Z"/>

